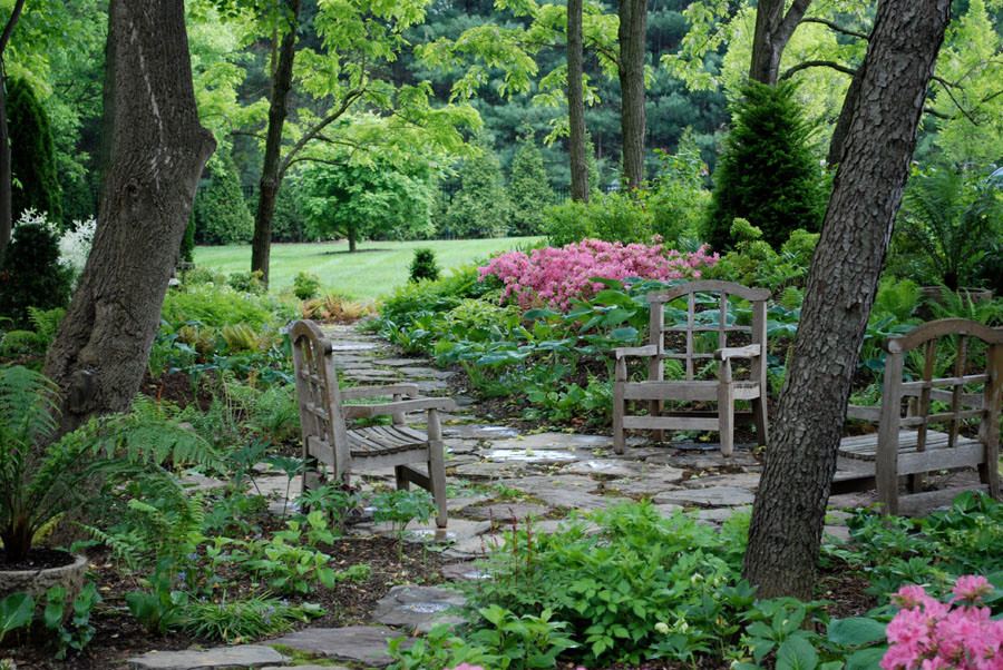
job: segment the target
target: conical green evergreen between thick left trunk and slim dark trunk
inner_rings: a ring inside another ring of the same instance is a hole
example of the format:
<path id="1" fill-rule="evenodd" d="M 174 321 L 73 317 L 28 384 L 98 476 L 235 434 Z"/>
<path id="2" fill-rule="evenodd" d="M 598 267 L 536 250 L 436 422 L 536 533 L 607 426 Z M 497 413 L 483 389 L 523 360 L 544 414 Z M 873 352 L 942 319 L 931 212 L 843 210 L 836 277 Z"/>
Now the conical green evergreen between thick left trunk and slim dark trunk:
<path id="1" fill-rule="evenodd" d="M 241 180 L 230 154 L 210 160 L 210 180 L 195 195 L 195 242 L 205 245 L 246 244 L 254 231 Z"/>

